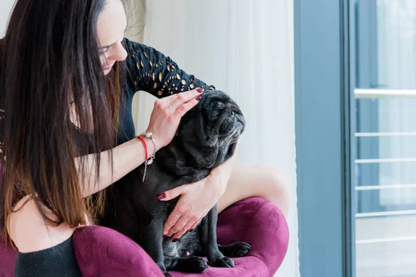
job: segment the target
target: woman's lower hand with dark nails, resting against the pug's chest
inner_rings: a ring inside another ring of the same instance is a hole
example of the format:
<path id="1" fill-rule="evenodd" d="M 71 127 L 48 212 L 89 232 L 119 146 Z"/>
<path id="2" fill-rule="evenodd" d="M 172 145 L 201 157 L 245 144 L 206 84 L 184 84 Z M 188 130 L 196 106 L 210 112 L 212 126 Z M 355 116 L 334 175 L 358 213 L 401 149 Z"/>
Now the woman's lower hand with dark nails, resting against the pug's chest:
<path id="1" fill-rule="evenodd" d="M 193 231 L 225 192 L 219 175 L 209 175 L 196 183 L 178 186 L 157 196 L 168 201 L 180 196 L 163 229 L 163 235 L 178 240 L 186 231 Z"/>

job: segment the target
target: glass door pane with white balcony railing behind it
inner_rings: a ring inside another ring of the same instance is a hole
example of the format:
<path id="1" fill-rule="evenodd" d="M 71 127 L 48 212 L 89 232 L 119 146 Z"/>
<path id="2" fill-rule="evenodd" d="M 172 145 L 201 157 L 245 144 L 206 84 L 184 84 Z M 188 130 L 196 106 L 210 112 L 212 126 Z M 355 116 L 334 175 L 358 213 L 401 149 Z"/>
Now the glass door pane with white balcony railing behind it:
<path id="1" fill-rule="evenodd" d="M 356 276 L 416 276 L 416 0 L 354 8 Z"/>

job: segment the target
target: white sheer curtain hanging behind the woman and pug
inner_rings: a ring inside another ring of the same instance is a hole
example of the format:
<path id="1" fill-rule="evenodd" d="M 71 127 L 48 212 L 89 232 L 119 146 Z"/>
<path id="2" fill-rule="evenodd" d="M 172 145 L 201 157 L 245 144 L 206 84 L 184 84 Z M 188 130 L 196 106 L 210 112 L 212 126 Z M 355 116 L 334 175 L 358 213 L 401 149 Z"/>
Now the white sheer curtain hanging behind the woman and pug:
<path id="1" fill-rule="evenodd" d="M 144 44 L 229 93 L 248 122 L 239 163 L 277 168 L 291 185 L 291 242 L 277 276 L 299 276 L 292 0 L 151 0 Z M 138 132 L 155 98 L 138 93 Z"/>

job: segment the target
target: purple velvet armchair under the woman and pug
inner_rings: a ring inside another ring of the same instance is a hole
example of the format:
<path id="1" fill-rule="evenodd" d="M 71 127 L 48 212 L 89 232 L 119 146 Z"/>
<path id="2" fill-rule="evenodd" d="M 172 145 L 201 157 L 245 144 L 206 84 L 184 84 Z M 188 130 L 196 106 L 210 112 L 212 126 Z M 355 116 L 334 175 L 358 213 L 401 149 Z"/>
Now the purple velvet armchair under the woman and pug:
<path id="1" fill-rule="evenodd" d="M 235 268 L 209 267 L 202 274 L 170 271 L 182 276 L 273 276 L 286 255 L 288 225 L 279 208 L 262 198 L 248 198 L 218 216 L 218 243 L 248 242 L 248 256 L 234 258 Z M 162 271 L 138 244 L 101 226 L 79 228 L 73 247 L 83 276 L 161 276 Z M 16 250 L 0 240 L 0 277 L 14 276 Z"/>

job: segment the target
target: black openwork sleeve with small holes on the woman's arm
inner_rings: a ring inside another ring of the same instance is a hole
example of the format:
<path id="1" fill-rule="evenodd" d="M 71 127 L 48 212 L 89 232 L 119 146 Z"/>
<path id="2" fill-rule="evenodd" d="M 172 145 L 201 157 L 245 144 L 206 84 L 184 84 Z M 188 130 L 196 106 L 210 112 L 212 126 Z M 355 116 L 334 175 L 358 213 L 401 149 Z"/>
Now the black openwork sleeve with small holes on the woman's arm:
<path id="1" fill-rule="evenodd" d="M 155 48 L 124 39 L 127 57 L 127 82 L 133 93 L 147 91 L 157 98 L 202 87 L 215 89 L 182 71 L 170 57 Z"/>

